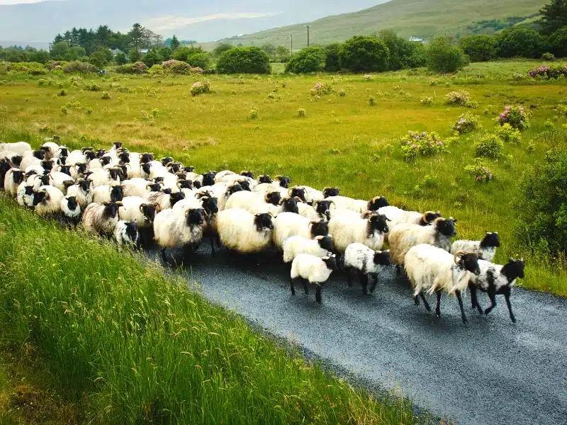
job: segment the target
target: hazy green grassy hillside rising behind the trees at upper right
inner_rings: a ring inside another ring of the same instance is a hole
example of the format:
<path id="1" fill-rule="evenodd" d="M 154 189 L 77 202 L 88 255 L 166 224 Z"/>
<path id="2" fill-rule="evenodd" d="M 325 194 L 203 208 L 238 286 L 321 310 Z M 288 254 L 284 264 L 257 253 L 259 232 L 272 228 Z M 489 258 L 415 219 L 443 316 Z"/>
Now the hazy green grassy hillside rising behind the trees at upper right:
<path id="1" fill-rule="evenodd" d="M 392 0 L 355 13 L 328 16 L 309 23 L 310 42 L 325 45 L 342 41 L 352 35 L 371 34 L 392 28 L 400 35 L 430 38 L 436 34 L 466 35 L 477 21 L 528 17 L 539 11 L 549 0 Z M 523 21 L 520 19 L 518 21 Z M 274 28 L 259 33 L 232 38 L 243 45 L 289 45 L 293 33 L 293 50 L 307 45 L 305 23 Z M 215 43 L 204 43 L 212 48 Z"/>

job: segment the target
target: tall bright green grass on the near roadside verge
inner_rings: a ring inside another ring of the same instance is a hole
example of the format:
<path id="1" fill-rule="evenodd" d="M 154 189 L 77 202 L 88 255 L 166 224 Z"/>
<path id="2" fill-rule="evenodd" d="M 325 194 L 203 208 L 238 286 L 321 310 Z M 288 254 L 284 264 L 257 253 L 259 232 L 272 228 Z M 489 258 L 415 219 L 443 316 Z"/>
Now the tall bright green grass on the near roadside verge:
<path id="1" fill-rule="evenodd" d="M 0 327 L 93 424 L 411 424 L 159 266 L 0 197 Z"/>

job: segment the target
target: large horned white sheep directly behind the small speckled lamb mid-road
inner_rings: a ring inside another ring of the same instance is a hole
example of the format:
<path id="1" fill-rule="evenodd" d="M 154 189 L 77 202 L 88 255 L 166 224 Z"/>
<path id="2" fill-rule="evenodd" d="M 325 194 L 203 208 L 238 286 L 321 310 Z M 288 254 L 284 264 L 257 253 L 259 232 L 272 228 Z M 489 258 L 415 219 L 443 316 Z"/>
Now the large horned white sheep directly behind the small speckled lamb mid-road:
<path id="1" fill-rule="evenodd" d="M 329 232 L 333 235 L 335 248 L 344 252 L 347 246 L 358 242 L 374 251 L 382 249 L 384 234 L 388 232 L 386 215 L 366 211 L 363 214 L 342 210 L 329 220 Z"/>

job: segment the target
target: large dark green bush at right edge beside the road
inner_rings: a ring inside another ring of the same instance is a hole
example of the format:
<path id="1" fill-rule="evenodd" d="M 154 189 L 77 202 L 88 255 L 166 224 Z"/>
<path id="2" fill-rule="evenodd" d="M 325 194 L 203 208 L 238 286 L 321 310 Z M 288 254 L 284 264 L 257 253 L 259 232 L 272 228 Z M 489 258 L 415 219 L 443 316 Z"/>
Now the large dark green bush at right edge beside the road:
<path id="1" fill-rule="evenodd" d="M 564 139 L 564 135 L 563 135 Z M 516 199 L 517 238 L 551 254 L 567 253 L 567 152 L 548 154 L 524 172 Z"/>

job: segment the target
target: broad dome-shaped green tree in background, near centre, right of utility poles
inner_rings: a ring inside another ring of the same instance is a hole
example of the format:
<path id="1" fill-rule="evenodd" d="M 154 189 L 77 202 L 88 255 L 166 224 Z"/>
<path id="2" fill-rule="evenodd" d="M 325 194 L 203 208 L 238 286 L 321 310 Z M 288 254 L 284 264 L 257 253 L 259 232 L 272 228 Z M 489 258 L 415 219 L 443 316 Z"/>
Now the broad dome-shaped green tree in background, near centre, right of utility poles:
<path id="1" fill-rule="evenodd" d="M 378 38 L 355 35 L 339 48 L 341 68 L 352 71 L 386 71 L 390 51 Z"/>

